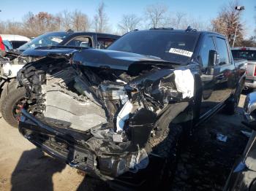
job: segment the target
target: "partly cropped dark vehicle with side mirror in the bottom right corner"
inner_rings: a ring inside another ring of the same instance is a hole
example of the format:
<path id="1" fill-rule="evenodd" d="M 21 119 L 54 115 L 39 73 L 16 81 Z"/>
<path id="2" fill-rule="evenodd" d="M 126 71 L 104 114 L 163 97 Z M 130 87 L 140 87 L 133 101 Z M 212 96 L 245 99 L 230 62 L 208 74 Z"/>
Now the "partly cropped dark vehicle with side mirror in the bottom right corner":
<path id="1" fill-rule="evenodd" d="M 244 125 L 252 130 L 244 154 L 236 161 L 225 185 L 227 190 L 256 190 L 256 93 L 244 102 Z"/>

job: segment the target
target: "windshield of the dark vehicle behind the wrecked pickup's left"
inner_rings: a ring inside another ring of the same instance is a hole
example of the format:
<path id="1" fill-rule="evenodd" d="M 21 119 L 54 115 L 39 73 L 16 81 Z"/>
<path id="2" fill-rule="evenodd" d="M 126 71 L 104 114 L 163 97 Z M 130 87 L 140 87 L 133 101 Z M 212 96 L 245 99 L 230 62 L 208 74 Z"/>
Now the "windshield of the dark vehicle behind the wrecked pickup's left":
<path id="1" fill-rule="evenodd" d="M 64 38 L 69 36 L 65 32 L 53 32 L 42 34 L 37 36 L 36 38 L 32 39 L 30 42 L 23 44 L 18 50 L 26 50 L 28 48 L 35 48 L 35 47 L 49 47 L 49 46 L 56 46 L 63 41 Z"/>

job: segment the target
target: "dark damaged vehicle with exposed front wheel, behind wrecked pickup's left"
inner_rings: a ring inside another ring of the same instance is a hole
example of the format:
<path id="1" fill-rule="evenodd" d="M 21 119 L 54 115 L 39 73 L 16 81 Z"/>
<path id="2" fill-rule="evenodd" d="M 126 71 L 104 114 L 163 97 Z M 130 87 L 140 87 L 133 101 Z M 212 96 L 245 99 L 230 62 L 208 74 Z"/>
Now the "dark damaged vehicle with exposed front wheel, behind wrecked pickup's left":
<path id="1" fill-rule="evenodd" d="M 5 57 L 0 58 L 1 72 L 0 72 L 0 87 L 1 87 L 1 98 L 0 98 L 0 111 L 4 119 L 12 126 L 18 125 L 17 120 L 14 117 L 16 113 L 16 107 L 19 105 L 18 102 L 23 100 L 24 89 L 16 89 L 17 72 L 26 64 L 32 60 L 34 49 L 45 49 L 53 46 L 59 47 L 96 47 L 105 48 L 110 43 L 118 39 L 119 36 L 112 34 L 99 34 L 90 32 L 50 32 L 42 34 L 30 42 L 23 44 L 18 48 L 19 52 L 7 52 Z M 23 52 L 20 55 L 20 52 Z M 36 58 L 39 59 L 39 58 Z M 10 61 L 12 60 L 12 61 Z M 17 93 L 15 95 L 8 96 L 10 91 L 14 89 Z M 7 103 L 1 106 L 4 99 L 7 99 Z M 18 104 L 18 105 L 17 105 Z"/>

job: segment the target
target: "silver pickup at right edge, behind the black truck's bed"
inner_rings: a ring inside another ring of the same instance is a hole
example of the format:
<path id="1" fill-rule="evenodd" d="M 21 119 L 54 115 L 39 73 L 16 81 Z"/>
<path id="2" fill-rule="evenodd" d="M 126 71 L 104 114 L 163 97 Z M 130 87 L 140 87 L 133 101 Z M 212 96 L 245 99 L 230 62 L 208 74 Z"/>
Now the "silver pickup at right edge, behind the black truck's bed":
<path id="1" fill-rule="evenodd" d="M 233 58 L 246 59 L 246 80 L 244 89 L 256 88 L 256 48 L 255 47 L 237 47 L 232 49 Z"/>

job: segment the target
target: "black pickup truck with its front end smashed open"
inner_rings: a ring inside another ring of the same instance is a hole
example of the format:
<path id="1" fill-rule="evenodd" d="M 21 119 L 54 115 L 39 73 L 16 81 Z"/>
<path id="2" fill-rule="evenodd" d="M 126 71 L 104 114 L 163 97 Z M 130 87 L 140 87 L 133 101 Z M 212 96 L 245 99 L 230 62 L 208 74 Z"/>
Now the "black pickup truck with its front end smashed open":
<path id="1" fill-rule="evenodd" d="M 225 36 L 192 28 L 132 31 L 107 50 L 34 51 L 47 56 L 18 72 L 20 133 L 117 190 L 148 179 L 167 188 L 182 132 L 233 114 L 244 85 Z"/>

